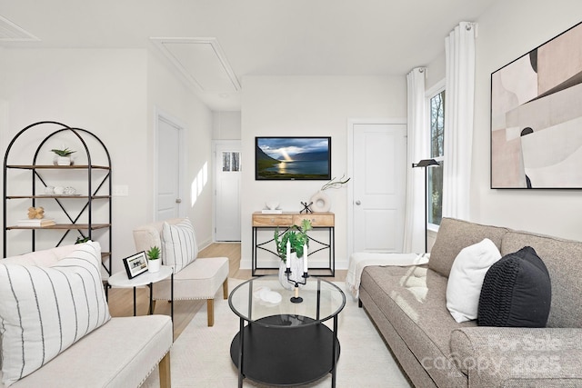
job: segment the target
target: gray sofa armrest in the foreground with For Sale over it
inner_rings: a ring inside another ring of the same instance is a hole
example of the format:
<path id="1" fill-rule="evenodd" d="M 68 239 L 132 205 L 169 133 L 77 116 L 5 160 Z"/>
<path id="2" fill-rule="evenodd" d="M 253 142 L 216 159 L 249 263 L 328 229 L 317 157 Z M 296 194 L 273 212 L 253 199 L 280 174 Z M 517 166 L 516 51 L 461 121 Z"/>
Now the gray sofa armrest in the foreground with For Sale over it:
<path id="1" fill-rule="evenodd" d="M 582 384 L 582 329 L 459 328 L 450 346 L 469 386 Z"/>

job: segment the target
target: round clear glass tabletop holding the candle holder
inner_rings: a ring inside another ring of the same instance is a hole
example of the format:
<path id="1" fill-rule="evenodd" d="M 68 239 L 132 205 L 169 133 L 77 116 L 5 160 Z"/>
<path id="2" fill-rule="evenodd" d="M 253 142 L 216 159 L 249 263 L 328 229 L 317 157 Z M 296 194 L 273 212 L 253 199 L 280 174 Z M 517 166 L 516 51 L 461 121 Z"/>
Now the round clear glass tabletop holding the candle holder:
<path id="1" fill-rule="evenodd" d="M 277 275 L 266 275 L 238 285 L 228 297 L 231 310 L 240 318 L 265 326 L 296 326 L 324 322 L 346 305 L 346 295 L 336 284 L 318 277 L 300 285 L 300 303 L 294 290 L 286 290 Z M 280 319 L 264 319 L 279 317 Z"/>

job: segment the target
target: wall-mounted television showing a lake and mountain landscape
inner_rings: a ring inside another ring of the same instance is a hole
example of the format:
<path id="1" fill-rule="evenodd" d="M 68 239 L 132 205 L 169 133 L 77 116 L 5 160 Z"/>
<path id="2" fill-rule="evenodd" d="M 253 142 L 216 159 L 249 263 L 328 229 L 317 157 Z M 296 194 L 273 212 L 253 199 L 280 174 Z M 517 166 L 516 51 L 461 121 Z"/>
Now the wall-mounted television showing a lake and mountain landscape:
<path id="1" fill-rule="evenodd" d="M 257 181 L 328 181 L 331 137 L 256 137 Z"/>

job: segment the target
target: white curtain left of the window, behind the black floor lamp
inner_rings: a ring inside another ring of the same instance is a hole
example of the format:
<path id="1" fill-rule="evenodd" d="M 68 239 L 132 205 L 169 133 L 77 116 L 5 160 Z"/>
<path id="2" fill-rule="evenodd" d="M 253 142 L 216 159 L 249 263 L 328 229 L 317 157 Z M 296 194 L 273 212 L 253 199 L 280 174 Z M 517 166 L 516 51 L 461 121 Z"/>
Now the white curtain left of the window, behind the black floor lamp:
<path id="1" fill-rule="evenodd" d="M 426 135 L 426 68 L 416 67 L 408 75 L 408 149 L 406 164 L 406 215 L 404 252 L 425 252 L 425 171 L 413 163 L 430 156 Z"/>

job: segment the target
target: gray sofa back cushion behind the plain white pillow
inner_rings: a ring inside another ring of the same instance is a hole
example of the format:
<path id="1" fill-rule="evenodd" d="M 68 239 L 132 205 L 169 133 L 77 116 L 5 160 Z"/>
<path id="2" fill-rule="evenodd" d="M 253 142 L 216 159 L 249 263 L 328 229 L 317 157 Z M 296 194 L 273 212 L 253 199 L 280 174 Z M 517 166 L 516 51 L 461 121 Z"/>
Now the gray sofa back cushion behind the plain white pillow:
<path id="1" fill-rule="evenodd" d="M 438 229 L 437 240 L 430 251 L 428 267 L 448 277 L 457 254 L 463 248 L 477 244 L 487 237 L 501 251 L 501 238 L 506 233 L 507 228 L 443 218 Z"/>

